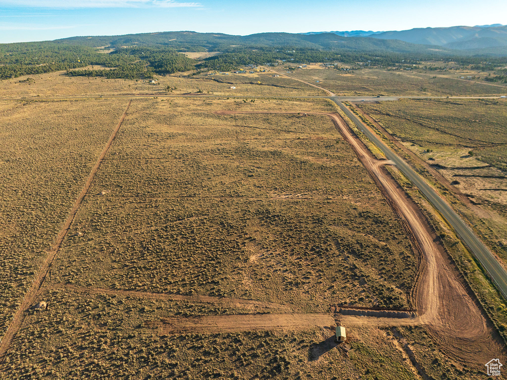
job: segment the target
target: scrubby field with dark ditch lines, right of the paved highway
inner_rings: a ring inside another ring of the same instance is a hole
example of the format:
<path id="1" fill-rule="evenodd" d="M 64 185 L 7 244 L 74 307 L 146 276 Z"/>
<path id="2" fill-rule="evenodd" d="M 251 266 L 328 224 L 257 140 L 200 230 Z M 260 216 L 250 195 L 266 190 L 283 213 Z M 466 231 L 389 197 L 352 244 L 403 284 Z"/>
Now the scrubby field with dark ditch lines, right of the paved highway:
<path id="1" fill-rule="evenodd" d="M 507 260 L 507 102 L 404 99 L 360 108 L 484 210 L 460 208 Z"/>

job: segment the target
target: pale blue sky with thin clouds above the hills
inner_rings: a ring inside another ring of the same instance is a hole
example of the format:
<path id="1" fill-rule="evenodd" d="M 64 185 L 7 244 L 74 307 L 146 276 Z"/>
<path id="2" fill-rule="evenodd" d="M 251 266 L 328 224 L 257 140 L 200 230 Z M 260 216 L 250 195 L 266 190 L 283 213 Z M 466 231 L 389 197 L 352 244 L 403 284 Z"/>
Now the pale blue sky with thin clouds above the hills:
<path id="1" fill-rule="evenodd" d="M 192 30 L 405 30 L 507 24 L 504 0 L 0 0 L 0 43 Z"/>

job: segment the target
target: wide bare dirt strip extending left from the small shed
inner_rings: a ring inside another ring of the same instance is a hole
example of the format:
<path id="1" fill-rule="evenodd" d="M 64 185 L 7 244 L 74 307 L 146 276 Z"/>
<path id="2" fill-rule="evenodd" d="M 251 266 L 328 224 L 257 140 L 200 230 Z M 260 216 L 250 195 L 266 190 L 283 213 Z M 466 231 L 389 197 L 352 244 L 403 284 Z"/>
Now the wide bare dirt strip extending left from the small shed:
<path id="1" fill-rule="evenodd" d="M 236 332 L 256 330 L 303 330 L 330 327 L 335 320 L 330 314 L 237 314 L 195 318 L 169 318 L 159 324 L 161 335 L 174 332 Z"/>

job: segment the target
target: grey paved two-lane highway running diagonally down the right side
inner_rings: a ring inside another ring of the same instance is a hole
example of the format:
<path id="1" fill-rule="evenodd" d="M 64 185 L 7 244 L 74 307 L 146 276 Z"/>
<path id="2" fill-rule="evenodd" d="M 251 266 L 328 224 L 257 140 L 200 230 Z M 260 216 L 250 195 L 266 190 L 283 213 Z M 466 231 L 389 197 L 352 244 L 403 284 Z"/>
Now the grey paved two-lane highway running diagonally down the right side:
<path id="1" fill-rule="evenodd" d="M 482 266 L 486 269 L 489 277 L 496 284 L 503 297 L 507 299 L 507 272 L 503 269 L 500 263 L 495 259 L 489 249 L 482 243 L 482 241 L 475 235 L 475 233 L 465 224 L 465 222 L 451 209 L 437 193 L 431 188 L 424 179 L 422 179 L 403 159 L 397 156 L 387 145 L 385 145 L 379 137 L 373 133 L 361 120 L 354 115 L 347 107 L 341 103 L 341 98 L 331 97 L 345 112 L 345 114 L 352 120 L 357 128 L 363 132 L 377 148 L 379 148 L 386 156 L 387 159 L 393 161 L 396 167 L 419 188 L 421 193 L 431 202 L 447 220 L 447 222 L 454 228 L 461 241 L 466 245 L 470 252 L 481 262 Z"/>

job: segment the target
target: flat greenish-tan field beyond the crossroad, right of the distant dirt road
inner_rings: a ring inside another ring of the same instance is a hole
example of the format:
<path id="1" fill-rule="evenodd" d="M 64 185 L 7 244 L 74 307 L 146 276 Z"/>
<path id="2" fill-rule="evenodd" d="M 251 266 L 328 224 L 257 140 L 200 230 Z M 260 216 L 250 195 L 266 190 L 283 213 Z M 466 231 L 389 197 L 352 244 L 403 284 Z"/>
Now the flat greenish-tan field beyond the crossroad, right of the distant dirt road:
<path id="1" fill-rule="evenodd" d="M 282 69 L 277 69 L 283 72 Z M 296 70 L 289 74 L 309 83 L 328 88 L 337 95 L 503 95 L 507 88 L 460 81 L 418 73 L 364 68 L 351 74 L 335 70 Z"/>

